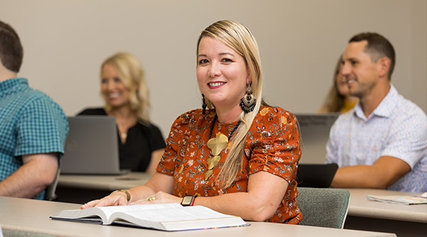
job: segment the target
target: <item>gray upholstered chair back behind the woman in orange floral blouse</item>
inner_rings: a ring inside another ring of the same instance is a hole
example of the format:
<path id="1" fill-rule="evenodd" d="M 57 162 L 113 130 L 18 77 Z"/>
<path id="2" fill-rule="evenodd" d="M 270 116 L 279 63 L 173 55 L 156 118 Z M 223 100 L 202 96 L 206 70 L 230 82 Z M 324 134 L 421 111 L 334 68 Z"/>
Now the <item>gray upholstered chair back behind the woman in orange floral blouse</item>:
<path id="1" fill-rule="evenodd" d="M 297 206 L 303 226 L 343 228 L 349 209 L 350 193 L 344 189 L 298 187 Z"/>

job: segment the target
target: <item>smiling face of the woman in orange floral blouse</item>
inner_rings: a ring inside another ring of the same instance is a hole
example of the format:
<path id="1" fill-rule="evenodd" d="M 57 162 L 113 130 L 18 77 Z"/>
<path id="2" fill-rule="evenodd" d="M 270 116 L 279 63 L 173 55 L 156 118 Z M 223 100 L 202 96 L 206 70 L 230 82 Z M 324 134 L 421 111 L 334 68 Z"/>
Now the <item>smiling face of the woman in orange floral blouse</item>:
<path id="1" fill-rule="evenodd" d="M 239 107 L 246 85 L 251 82 L 245 59 L 221 41 L 205 36 L 199 43 L 197 61 L 201 93 L 217 109 Z"/>

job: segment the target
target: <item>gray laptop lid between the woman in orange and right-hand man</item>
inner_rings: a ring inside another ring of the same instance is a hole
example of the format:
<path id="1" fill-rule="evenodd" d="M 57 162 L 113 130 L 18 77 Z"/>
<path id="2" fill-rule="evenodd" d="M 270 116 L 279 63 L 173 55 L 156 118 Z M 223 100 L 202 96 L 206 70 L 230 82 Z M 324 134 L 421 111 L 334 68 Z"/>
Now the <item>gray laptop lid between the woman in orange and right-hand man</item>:
<path id="1" fill-rule="evenodd" d="M 330 129 L 339 113 L 295 114 L 300 125 L 300 164 L 325 164 L 326 144 Z"/>

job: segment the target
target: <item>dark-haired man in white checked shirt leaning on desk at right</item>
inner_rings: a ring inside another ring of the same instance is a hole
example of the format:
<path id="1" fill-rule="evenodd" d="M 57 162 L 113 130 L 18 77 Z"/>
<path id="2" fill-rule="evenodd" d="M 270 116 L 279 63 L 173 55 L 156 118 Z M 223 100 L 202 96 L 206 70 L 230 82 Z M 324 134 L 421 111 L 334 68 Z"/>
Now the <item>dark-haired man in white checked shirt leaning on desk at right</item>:
<path id="1" fill-rule="evenodd" d="M 331 127 L 326 161 L 339 166 L 331 187 L 427 191 L 427 116 L 391 83 L 393 45 L 379 33 L 358 33 L 342 62 L 359 102 Z"/>

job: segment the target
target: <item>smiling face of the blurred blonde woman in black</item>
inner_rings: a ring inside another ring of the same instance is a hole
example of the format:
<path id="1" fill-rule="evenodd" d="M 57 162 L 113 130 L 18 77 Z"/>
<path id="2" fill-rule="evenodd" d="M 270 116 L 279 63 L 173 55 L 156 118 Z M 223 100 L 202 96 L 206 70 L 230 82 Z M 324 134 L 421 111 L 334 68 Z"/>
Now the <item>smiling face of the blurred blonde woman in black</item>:
<path id="1" fill-rule="evenodd" d="M 101 94 L 113 109 L 129 105 L 130 90 L 122 83 L 117 71 L 110 64 L 102 67 Z"/>

